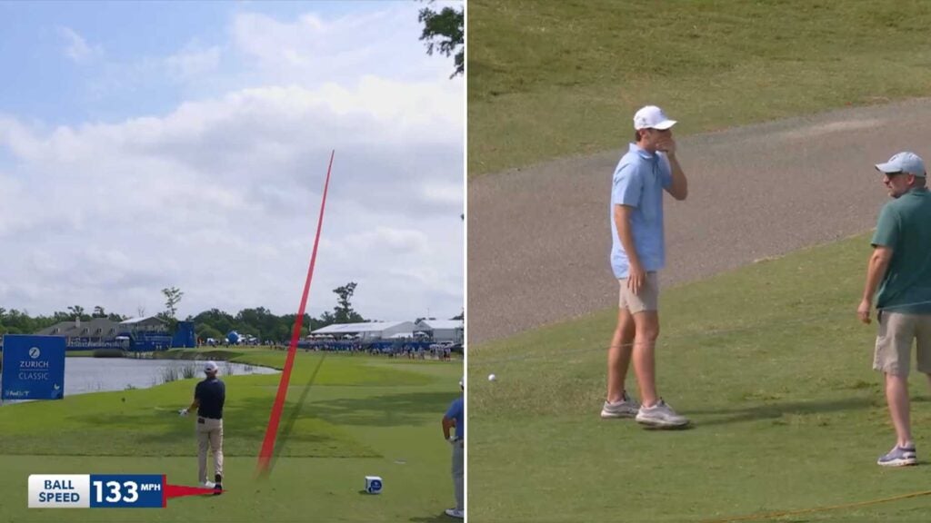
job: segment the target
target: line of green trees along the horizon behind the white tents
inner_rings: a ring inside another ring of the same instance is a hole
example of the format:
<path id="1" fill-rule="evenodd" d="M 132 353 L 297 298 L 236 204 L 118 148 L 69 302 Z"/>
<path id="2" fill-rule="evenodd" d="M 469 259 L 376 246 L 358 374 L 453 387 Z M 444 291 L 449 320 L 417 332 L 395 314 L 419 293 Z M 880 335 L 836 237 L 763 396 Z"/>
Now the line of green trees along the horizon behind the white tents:
<path id="1" fill-rule="evenodd" d="M 305 314 L 302 322 L 302 336 L 307 335 L 312 330 L 322 329 L 332 324 L 371 321 L 360 315 L 352 306 L 352 296 L 356 292 L 357 285 L 356 282 L 349 282 L 344 286 L 333 289 L 333 293 L 337 296 L 337 302 L 332 311 L 325 311 L 316 317 Z M 177 314 L 178 303 L 181 302 L 184 293 L 179 288 L 171 287 L 163 288 L 162 294 L 166 300 L 165 310 L 156 315 L 169 322 L 173 327 L 178 321 L 175 315 Z M 145 309 L 140 307 L 137 310 L 137 315 L 144 316 Z M 81 321 L 107 318 L 118 322 L 127 320 L 130 317 L 118 313 L 108 313 L 100 305 L 95 306 L 90 313 L 81 305 L 72 305 L 67 308 L 67 311 L 57 311 L 52 315 L 37 316 L 29 315 L 27 311 L 7 310 L 0 307 L 0 334 L 32 334 L 62 321 L 74 321 L 77 318 L 80 318 Z M 463 319 L 463 317 L 464 315 L 458 315 L 452 319 Z M 296 318 L 297 315 L 274 315 L 264 307 L 256 307 L 242 309 L 236 315 L 213 308 L 198 315 L 189 315 L 184 320 L 194 322 L 197 338 L 201 340 L 213 338 L 223 341 L 226 339 L 226 334 L 236 330 L 241 336 L 254 336 L 262 341 L 287 342 L 290 340 Z M 415 321 L 421 319 L 426 318 L 417 318 Z"/>

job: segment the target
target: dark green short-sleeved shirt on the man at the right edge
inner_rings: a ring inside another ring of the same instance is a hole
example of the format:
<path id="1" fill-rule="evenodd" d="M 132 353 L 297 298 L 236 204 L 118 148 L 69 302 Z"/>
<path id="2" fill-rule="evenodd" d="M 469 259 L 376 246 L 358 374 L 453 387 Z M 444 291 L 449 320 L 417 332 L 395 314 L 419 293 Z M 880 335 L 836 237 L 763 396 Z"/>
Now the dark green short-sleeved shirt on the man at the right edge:
<path id="1" fill-rule="evenodd" d="M 876 308 L 931 313 L 931 193 L 912 189 L 885 204 L 871 243 L 892 248 L 892 260 L 876 293 Z"/>

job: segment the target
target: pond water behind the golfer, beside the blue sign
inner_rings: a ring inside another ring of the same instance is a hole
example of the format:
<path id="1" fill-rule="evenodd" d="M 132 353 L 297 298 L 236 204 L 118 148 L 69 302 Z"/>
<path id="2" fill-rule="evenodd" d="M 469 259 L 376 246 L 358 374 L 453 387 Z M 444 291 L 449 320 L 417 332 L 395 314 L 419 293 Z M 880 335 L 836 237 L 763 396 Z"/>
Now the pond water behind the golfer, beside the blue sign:
<path id="1" fill-rule="evenodd" d="M 64 396 L 106 391 L 122 391 L 130 387 L 145 389 L 172 379 L 204 378 L 204 361 L 182 359 L 134 359 L 124 357 L 65 358 Z M 218 361 L 220 378 L 244 374 L 277 374 L 268 369 L 242 363 Z"/>

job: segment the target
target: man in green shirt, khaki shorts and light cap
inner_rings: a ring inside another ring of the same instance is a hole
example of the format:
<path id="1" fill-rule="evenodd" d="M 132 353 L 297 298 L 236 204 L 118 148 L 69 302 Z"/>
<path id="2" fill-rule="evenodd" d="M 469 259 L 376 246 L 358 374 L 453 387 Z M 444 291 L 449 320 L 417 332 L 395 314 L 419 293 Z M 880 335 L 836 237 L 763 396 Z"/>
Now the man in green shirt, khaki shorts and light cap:
<path id="1" fill-rule="evenodd" d="M 885 399 L 897 436 L 896 446 L 877 463 L 903 466 L 918 462 L 909 419 L 912 341 L 918 370 L 931 378 L 931 194 L 924 160 L 917 154 L 896 154 L 876 169 L 893 199 L 880 211 L 870 242 L 873 253 L 857 315 L 870 323 L 875 296 L 879 333 L 873 369 L 885 375 Z"/>

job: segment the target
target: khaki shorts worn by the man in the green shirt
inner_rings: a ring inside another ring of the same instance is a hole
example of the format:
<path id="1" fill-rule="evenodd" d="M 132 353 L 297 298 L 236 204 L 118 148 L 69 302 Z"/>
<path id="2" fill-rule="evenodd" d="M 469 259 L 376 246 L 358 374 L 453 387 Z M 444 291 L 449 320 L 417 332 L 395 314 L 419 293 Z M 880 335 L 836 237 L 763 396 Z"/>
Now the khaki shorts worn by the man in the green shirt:
<path id="1" fill-rule="evenodd" d="M 912 340 L 918 347 L 918 371 L 931 373 L 931 315 L 879 313 L 873 369 L 896 376 L 908 376 Z"/>

